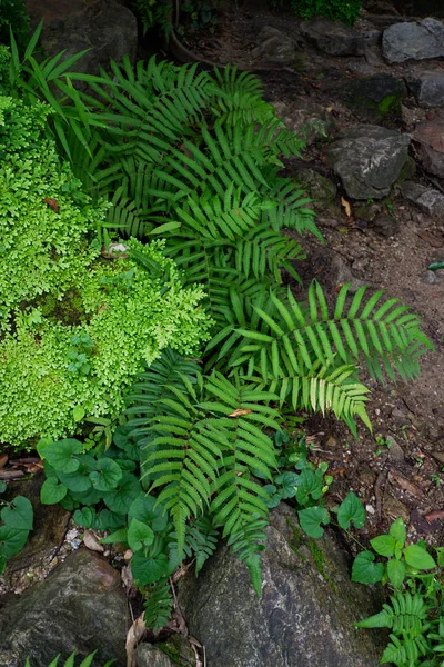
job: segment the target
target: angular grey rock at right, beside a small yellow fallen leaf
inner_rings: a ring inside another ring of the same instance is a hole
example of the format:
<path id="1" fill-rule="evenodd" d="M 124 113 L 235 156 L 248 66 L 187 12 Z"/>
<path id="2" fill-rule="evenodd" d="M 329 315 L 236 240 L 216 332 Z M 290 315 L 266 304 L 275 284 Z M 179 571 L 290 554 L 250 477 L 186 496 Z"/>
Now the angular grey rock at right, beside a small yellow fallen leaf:
<path id="1" fill-rule="evenodd" d="M 349 197 L 382 199 L 401 173 L 410 141 L 396 130 L 356 125 L 337 135 L 326 156 Z"/>

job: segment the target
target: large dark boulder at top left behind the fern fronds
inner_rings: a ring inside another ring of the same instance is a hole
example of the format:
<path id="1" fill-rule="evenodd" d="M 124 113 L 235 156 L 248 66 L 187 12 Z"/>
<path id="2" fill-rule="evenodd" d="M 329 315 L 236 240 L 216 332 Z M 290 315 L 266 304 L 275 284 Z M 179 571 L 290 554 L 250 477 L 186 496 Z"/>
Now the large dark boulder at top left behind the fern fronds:
<path id="1" fill-rule="evenodd" d="M 135 58 L 138 26 L 134 14 L 114 0 L 85 3 L 81 13 L 54 19 L 43 28 L 41 43 L 48 56 L 65 50 L 64 58 L 90 49 L 75 63 L 75 70 L 98 74 L 109 69 L 110 60 Z"/>

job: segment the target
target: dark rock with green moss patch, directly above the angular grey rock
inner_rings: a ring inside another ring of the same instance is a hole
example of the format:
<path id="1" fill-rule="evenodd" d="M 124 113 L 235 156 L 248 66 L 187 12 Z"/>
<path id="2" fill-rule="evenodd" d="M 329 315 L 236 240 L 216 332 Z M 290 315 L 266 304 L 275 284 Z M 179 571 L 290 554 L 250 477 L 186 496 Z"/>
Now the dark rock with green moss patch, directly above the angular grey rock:
<path id="1" fill-rule="evenodd" d="M 359 116 L 379 121 L 389 115 L 401 116 L 401 102 L 405 96 L 403 81 L 392 74 L 380 73 L 349 81 L 344 101 Z"/>

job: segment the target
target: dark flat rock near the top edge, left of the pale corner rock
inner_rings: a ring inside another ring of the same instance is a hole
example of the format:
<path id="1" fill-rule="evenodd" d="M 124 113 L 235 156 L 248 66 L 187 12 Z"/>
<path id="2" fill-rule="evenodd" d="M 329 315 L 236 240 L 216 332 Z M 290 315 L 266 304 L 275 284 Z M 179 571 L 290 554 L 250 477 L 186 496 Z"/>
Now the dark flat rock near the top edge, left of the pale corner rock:
<path id="1" fill-rule="evenodd" d="M 301 26 L 301 34 L 330 56 L 364 56 L 365 37 L 342 23 L 315 18 Z"/>

